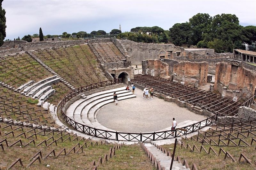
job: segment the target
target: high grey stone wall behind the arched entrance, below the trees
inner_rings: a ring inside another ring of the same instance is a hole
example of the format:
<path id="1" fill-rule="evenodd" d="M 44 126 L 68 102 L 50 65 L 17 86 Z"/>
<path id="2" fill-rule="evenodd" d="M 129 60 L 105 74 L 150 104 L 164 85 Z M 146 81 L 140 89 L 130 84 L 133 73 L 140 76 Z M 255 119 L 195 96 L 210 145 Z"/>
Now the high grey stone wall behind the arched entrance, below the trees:
<path id="1" fill-rule="evenodd" d="M 124 45 L 127 54 L 131 56 L 132 64 L 141 64 L 142 60 L 156 59 L 159 56 L 172 59 L 177 53 L 184 51 L 174 44 L 138 43 L 130 40 L 119 40 Z"/>

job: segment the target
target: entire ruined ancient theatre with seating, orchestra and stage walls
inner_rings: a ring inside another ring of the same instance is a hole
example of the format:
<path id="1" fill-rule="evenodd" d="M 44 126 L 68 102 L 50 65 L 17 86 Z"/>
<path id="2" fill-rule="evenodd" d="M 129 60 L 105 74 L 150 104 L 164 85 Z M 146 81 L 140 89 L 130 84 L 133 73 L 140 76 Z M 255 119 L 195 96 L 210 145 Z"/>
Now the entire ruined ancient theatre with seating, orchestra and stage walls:
<path id="1" fill-rule="evenodd" d="M 255 52 L 110 37 L 1 48 L 2 169 L 255 168 Z"/>

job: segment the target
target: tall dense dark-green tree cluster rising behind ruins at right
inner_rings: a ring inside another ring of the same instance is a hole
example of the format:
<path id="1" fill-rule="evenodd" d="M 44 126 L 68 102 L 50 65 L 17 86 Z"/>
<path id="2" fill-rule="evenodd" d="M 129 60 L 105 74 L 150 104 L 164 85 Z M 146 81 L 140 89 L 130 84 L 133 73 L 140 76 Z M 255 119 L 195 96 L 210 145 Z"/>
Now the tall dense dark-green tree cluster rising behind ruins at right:
<path id="1" fill-rule="evenodd" d="M 255 26 L 240 26 L 238 18 L 232 14 L 211 17 L 198 13 L 189 22 L 174 24 L 170 28 L 173 44 L 193 44 L 198 48 L 213 48 L 218 53 L 233 52 L 234 48 L 245 49 L 242 43 L 255 41 L 255 33 Z"/>

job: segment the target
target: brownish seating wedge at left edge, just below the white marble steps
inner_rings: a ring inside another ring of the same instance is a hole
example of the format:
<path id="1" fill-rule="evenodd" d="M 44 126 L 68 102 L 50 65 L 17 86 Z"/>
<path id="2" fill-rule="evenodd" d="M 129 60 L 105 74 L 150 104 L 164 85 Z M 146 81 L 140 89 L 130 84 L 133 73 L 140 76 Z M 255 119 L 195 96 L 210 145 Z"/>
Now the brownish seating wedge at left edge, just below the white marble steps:
<path id="1" fill-rule="evenodd" d="M 55 125 L 48 111 L 35 104 L 36 100 L 4 87 L 0 88 L 0 117 L 3 118 L 1 122 L 5 118 L 4 122 L 7 122 L 7 119 L 10 124 L 24 122 L 23 125 L 34 124 L 35 127 L 43 125 L 58 129 L 59 126 Z"/>

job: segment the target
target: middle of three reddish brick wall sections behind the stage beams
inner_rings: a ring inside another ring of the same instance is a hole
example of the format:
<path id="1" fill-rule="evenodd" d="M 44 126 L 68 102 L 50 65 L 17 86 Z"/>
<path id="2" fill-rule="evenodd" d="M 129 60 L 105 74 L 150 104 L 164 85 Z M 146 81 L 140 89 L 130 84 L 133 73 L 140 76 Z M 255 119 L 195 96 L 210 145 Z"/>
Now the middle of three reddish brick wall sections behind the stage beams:
<path id="1" fill-rule="evenodd" d="M 198 81 L 198 85 L 205 85 L 207 83 L 208 63 L 192 63 L 189 61 L 180 62 L 173 65 L 173 80 L 185 82 L 186 84 L 195 85 Z"/>

